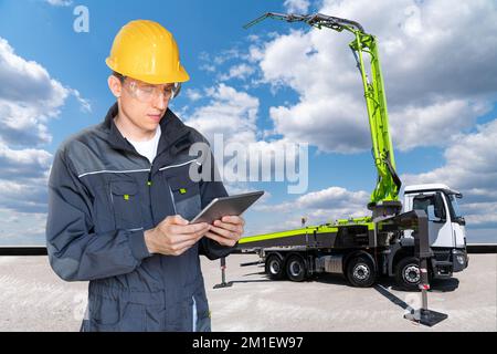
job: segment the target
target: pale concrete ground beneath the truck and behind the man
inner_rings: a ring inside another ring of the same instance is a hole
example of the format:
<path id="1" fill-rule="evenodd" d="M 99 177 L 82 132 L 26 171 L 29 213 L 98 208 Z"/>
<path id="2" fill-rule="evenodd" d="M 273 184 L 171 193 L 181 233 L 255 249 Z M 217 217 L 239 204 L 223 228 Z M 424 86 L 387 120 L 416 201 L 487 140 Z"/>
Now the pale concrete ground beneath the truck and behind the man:
<path id="1" fill-rule="evenodd" d="M 255 254 L 228 258 L 231 288 L 221 282 L 219 261 L 202 258 L 213 331 L 490 331 L 497 332 L 497 254 L 472 254 L 469 268 L 432 284 L 429 308 L 448 314 L 434 327 L 403 319 L 421 305 L 420 293 L 395 290 L 389 280 L 370 289 L 340 277 L 303 283 L 268 281 Z M 87 283 L 67 283 L 46 257 L 0 257 L 0 331 L 78 331 Z"/>

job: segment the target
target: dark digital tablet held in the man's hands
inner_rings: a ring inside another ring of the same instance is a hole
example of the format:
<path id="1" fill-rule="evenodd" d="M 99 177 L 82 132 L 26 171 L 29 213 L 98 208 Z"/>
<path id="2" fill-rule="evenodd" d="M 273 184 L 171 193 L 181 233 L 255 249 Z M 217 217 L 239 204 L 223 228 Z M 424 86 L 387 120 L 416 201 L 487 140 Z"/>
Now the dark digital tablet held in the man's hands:
<path id="1" fill-rule="evenodd" d="M 200 211 L 190 223 L 208 222 L 212 223 L 215 220 L 221 220 L 225 216 L 240 216 L 251 205 L 253 205 L 264 190 L 245 192 L 242 195 L 220 197 L 213 199 L 202 211 Z"/>

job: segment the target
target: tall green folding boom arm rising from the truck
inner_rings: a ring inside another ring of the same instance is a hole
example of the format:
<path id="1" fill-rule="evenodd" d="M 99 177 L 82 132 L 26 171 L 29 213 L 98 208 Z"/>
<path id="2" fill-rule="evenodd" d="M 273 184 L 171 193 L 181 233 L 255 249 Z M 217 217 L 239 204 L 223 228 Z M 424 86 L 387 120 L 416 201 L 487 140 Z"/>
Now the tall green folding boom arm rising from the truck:
<path id="1" fill-rule="evenodd" d="M 244 28 L 254 25 L 266 18 L 284 20 L 287 22 L 305 22 L 317 29 L 325 27 L 338 32 L 346 30 L 353 33 L 356 39 L 350 42 L 349 46 L 353 52 L 362 77 L 369 125 L 371 128 L 372 155 L 378 170 L 378 183 L 371 194 L 369 207 L 382 204 L 383 201 L 398 201 L 401 180 L 395 171 L 395 159 L 389 132 L 387 97 L 384 94 L 380 58 L 378 55 L 378 44 L 374 35 L 366 33 L 362 25 L 358 22 L 321 13 L 299 15 L 267 12 L 247 23 Z M 369 55 L 371 79 L 366 71 L 364 53 Z"/>

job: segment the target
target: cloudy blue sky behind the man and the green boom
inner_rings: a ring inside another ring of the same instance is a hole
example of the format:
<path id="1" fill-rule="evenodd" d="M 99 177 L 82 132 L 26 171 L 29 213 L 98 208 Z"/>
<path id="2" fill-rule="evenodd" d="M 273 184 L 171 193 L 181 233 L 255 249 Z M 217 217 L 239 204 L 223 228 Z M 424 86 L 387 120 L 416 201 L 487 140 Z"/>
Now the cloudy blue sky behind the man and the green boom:
<path id="1" fill-rule="evenodd" d="M 77 6 L 88 32 L 73 29 Z M 497 241 L 495 1 L 0 0 L 0 244 L 44 242 L 53 154 L 113 104 L 104 60 L 134 19 L 176 37 L 191 80 L 171 108 L 187 124 L 266 152 L 309 144 L 302 195 L 286 183 L 228 184 L 267 191 L 246 214 L 248 235 L 367 214 L 376 170 L 351 38 L 269 20 L 242 28 L 266 11 L 349 18 L 376 34 L 404 183 L 462 190 L 468 241 Z"/>

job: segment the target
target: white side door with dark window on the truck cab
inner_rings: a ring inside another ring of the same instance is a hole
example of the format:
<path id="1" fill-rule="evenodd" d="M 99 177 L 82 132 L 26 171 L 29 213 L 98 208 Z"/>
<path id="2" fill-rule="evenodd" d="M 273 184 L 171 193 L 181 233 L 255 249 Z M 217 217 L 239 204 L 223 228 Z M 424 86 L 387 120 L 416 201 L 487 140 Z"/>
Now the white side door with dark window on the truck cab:
<path id="1" fill-rule="evenodd" d="M 430 246 L 434 248 L 453 248 L 454 237 L 451 217 L 447 212 L 444 196 L 441 192 L 427 192 L 417 195 L 413 199 L 413 209 L 424 210 L 429 216 L 430 206 L 434 211 L 434 218 L 429 220 Z"/>

